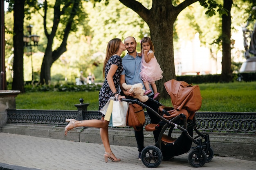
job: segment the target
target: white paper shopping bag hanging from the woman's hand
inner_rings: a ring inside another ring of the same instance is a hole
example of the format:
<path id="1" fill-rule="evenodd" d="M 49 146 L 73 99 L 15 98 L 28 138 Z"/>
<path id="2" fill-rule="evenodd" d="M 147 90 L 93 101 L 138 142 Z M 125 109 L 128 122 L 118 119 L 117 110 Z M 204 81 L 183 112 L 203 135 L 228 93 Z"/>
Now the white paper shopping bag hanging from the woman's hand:
<path id="1" fill-rule="evenodd" d="M 112 110 L 112 123 L 116 127 L 126 126 L 126 113 L 128 110 L 128 102 L 121 102 L 117 99 L 113 100 L 113 110 Z"/>

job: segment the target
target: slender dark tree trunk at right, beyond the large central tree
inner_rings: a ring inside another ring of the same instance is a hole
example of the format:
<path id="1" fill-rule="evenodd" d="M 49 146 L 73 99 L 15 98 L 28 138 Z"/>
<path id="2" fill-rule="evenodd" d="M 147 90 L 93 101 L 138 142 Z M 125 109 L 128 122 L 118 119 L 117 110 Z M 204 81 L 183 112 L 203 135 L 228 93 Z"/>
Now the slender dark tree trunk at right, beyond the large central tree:
<path id="1" fill-rule="evenodd" d="M 228 15 L 222 15 L 222 72 L 220 82 L 232 81 L 231 70 L 231 7 L 233 0 L 223 0 L 223 7 L 228 10 Z"/>

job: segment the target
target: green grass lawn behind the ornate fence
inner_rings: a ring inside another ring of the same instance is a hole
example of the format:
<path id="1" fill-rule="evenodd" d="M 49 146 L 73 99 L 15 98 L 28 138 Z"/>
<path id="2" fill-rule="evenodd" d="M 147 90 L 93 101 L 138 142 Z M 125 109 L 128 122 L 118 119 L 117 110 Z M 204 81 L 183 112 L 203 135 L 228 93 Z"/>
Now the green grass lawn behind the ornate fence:
<path id="1" fill-rule="evenodd" d="M 199 84 L 202 107 L 199 111 L 256 112 L 256 82 Z M 29 92 L 16 97 L 16 109 L 76 110 L 79 99 L 98 110 L 99 92 Z M 171 106 L 171 98 L 159 101 Z"/>

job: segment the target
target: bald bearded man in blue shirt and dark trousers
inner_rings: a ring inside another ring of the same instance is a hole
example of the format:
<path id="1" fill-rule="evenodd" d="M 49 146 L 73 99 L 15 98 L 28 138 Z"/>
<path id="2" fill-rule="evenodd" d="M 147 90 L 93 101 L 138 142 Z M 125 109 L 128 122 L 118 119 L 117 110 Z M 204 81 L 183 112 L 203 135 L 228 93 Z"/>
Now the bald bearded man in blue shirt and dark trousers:
<path id="1" fill-rule="evenodd" d="M 143 81 L 141 80 L 140 75 L 139 75 L 139 73 L 141 71 L 140 70 L 141 57 L 138 56 L 138 53 L 136 51 L 137 43 L 136 43 L 136 40 L 134 37 L 127 37 L 124 40 L 124 45 L 126 46 L 126 50 L 128 51 L 128 53 L 126 54 L 126 56 L 123 58 L 123 61 L 122 61 L 124 70 L 120 76 L 120 87 L 121 87 L 121 91 L 122 91 L 121 95 L 133 97 L 134 94 L 130 93 L 129 90 L 127 90 L 127 91 L 124 90 L 124 88 L 122 87 L 122 84 L 123 83 L 126 83 L 128 85 L 134 85 L 136 83 L 143 84 Z M 148 94 L 148 96 L 153 98 L 154 93 L 153 93 L 153 89 L 151 86 L 150 86 L 150 89 L 152 90 L 152 92 L 150 94 Z M 145 102 L 145 104 L 147 106 L 149 106 L 151 109 L 158 112 L 159 105 L 157 105 L 155 102 L 147 101 L 147 102 Z M 148 111 L 148 115 L 150 116 L 151 123 L 154 123 L 154 124 L 159 123 L 159 121 L 160 121 L 159 118 L 157 118 L 157 116 L 155 116 L 153 113 Z M 157 142 L 157 140 L 158 140 L 160 131 L 161 131 L 161 129 L 153 131 L 155 142 Z M 142 128 L 140 131 L 135 131 L 135 138 L 137 141 L 137 147 L 138 147 L 138 151 L 139 151 L 139 160 L 140 160 L 141 159 L 141 151 L 144 148 L 144 134 L 143 134 Z"/>

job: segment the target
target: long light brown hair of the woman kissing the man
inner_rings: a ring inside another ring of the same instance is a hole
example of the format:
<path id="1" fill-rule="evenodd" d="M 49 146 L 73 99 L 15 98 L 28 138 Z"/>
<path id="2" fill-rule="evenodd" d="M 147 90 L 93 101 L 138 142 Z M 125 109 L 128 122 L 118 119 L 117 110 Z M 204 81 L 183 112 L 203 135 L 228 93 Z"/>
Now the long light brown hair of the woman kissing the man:
<path id="1" fill-rule="evenodd" d="M 106 57 L 103 65 L 103 77 L 105 77 L 105 67 L 108 63 L 108 60 L 112 55 L 117 53 L 117 51 L 119 50 L 120 42 L 121 42 L 121 39 L 119 38 L 111 39 L 108 42 L 107 49 L 106 49 Z"/>

